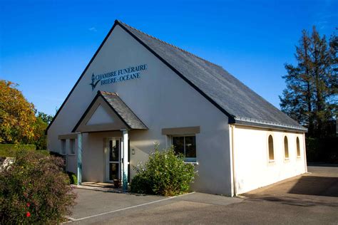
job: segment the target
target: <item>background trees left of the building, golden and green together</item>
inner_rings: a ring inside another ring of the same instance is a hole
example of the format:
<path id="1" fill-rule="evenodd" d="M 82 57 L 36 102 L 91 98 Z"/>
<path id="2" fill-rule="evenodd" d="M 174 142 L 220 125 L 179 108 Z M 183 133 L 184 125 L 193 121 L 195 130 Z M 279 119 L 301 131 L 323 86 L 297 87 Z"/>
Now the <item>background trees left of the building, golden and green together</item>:
<path id="1" fill-rule="evenodd" d="M 45 131 L 53 117 L 38 112 L 16 87 L 0 80 L 0 144 L 36 145 L 37 150 L 46 150 Z"/>

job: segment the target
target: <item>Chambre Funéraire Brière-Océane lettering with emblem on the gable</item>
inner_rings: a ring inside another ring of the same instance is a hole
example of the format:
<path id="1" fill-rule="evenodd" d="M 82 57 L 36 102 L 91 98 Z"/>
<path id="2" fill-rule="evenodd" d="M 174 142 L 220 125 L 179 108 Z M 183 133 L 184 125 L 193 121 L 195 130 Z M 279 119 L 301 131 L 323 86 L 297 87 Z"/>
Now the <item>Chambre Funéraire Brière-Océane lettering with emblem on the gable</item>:
<path id="1" fill-rule="evenodd" d="M 143 70 L 148 69 L 147 64 L 139 65 L 139 66 L 131 66 L 128 68 L 124 68 L 121 70 L 115 70 L 108 73 L 91 75 L 91 85 L 92 90 L 96 88 L 98 83 L 100 85 L 107 85 L 109 83 L 118 83 L 126 80 L 134 80 L 140 78 L 141 72 Z"/>

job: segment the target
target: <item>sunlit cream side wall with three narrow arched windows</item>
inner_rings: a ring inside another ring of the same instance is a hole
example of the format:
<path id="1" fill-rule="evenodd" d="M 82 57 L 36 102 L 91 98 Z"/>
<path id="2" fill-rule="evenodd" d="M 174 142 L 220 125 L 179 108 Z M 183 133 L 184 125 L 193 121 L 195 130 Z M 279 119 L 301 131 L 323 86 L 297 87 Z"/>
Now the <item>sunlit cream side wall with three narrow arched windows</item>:
<path id="1" fill-rule="evenodd" d="M 272 135 L 274 141 L 275 162 L 269 162 L 267 140 L 269 135 Z M 284 153 L 285 135 L 289 142 L 288 160 L 285 160 Z M 296 137 L 299 137 L 300 157 L 297 157 Z M 304 133 L 236 125 L 233 138 L 237 194 L 307 172 Z"/>

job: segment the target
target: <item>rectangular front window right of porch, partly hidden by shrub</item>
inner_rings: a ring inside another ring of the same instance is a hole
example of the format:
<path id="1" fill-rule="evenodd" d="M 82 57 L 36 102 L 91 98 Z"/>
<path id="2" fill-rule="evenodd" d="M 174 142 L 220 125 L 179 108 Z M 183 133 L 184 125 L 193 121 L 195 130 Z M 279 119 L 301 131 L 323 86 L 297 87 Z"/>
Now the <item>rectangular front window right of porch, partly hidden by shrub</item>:
<path id="1" fill-rule="evenodd" d="M 176 154 L 185 156 L 186 161 L 196 161 L 196 137 L 194 136 L 173 136 L 173 146 Z"/>

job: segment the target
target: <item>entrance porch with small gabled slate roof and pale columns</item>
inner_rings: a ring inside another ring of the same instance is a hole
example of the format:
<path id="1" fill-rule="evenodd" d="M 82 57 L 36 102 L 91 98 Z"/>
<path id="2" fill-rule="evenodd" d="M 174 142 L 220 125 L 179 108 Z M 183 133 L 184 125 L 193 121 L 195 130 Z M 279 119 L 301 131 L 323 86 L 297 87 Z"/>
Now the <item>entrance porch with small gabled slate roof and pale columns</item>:
<path id="1" fill-rule="evenodd" d="M 82 180 L 82 133 L 121 130 L 123 133 L 121 162 L 123 189 L 128 189 L 128 130 L 148 130 L 117 93 L 98 90 L 72 132 L 78 133 L 78 184 Z"/>

